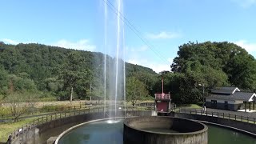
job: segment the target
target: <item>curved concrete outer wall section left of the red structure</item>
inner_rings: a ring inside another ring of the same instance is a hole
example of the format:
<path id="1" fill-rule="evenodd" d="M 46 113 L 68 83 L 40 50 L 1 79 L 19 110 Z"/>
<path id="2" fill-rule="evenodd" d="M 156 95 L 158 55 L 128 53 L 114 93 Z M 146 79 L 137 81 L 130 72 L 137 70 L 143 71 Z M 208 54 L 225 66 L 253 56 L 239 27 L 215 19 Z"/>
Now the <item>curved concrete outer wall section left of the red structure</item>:
<path id="1" fill-rule="evenodd" d="M 146 110 L 134 110 L 134 111 L 117 111 L 116 116 L 117 117 L 132 117 L 132 116 L 150 116 L 152 114 L 152 111 Z M 105 114 L 105 118 L 108 118 L 107 114 Z M 20 137 L 15 138 L 12 144 L 20 144 L 20 143 L 26 143 L 26 144 L 32 144 L 32 143 L 45 143 L 46 140 L 50 137 L 57 136 L 57 135 L 51 135 L 51 130 L 58 128 L 60 126 L 65 125 L 78 125 L 82 122 L 89 122 L 91 120 L 95 119 L 102 119 L 104 118 L 103 112 L 97 112 L 95 113 L 87 113 L 87 114 L 78 114 L 66 118 L 58 118 L 55 120 L 52 120 L 50 122 L 45 122 L 42 124 L 39 124 L 35 126 L 33 129 L 24 132 L 24 134 L 21 134 Z M 48 137 L 44 136 L 41 138 L 41 135 L 49 135 Z"/>

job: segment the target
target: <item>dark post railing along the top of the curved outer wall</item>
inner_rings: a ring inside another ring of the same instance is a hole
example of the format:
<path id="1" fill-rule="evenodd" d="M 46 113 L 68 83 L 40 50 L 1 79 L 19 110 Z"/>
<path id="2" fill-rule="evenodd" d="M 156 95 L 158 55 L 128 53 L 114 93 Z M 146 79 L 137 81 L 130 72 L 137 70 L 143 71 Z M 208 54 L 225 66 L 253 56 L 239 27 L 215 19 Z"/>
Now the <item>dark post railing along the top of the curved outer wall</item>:
<path id="1" fill-rule="evenodd" d="M 107 111 L 110 111 L 111 106 L 106 106 Z M 134 110 L 154 110 L 154 107 L 152 106 L 118 106 L 118 108 L 121 107 L 120 110 L 126 110 L 126 111 L 134 111 Z M 113 109 L 112 109 L 113 110 Z M 96 112 L 104 112 L 104 107 L 98 106 L 98 107 L 86 107 L 82 106 L 81 108 L 70 108 L 68 110 L 62 110 L 58 111 L 52 114 L 46 114 L 43 115 L 42 117 L 37 117 L 34 118 L 31 122 L 26 123 L 26 125 L 21 126 L 18 128 L 18 130 L 14 130 L 13 133 L 10 134 L 12 140 L 17 140 L 19 142 L 24 142 L 26 140 L 26 135 L 30 131 L 34 131 L 36 126 L 46 123 L 46 122 L 51 122 L 59 118 L 66 118 L 70 116 L 75 116 L 75 115 L 80 115 L 80 114 L 92 114 Z M 227 118 L 235 121 L 240 121 L 240 122 L 249 122 L 252 124 L 256 123 L 256 118 L 250 118 L 238 114 L 229 114 L 229 113 L 220 113 L 220 112 L 214 112 L 214 111 L 204 111 L 201 109 L 176 109 L 174 110 L 176 113 L 184 113 L 184 114 L 200 114 L 200 115 L 205 115 L 205 116 L 210 116 L 210 117 L 215 117 L 215 118 Z M 6 138 L 7 139 L 7 138 Z"/>

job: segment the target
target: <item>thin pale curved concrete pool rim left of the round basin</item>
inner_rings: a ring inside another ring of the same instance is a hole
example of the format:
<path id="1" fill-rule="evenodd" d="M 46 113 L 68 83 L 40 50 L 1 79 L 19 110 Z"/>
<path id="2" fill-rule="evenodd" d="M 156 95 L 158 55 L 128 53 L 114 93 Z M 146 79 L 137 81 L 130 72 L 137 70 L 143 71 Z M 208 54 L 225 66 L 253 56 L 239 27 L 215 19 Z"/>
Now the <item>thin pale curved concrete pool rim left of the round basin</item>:
<path id="1" fill-rule="evenodd" d="M 137 116 L 134 116 L 134 117 L 137 117 Z M 111 120 L 111 119 L 122 119 L 122 118 L 128 118 L 128 117 L 116 117 L 116 118 L 101 118 L 101 119 L 94 119 L 94 120 L 91 120 L 91 121 L 88 121 L 88 122 L 82 122 L 78 125 L 75 125 L 75 126 L 72 126 L 70 127 L 69 129 L 65 130 L 62 132 L 62 134 L 59 134 L 58 137 L 56 138 L 54 144 L 58 144 L 58 141 L 65 135 L 65 134 L 68 134 L 71 130 L 74 130 L 80 126 L 83 126 L 83 125 L 86 125 L 88 123 L 91 123 L 91 122 L 99 122 L 99 121 L 106 121 L 106 120 Z M 133 118 L 133 117 L 129 117 L 129 118 Z"/>

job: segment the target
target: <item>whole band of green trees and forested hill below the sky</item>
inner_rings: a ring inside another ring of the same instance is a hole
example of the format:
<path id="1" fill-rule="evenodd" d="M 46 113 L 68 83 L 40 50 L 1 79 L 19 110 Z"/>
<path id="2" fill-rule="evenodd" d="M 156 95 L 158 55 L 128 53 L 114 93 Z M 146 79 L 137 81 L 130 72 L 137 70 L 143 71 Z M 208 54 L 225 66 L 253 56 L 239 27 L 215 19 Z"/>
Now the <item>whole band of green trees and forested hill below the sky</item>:
<path id="1" fill-rule="evenodd" d="M 107 55 L 106 59 L 107 67 L 114 65 L 114 58 Z M 38 100 L 70 100 L 71 94 L 73 99 L 102 100 L 103 60 L 104 54 L 98 52 L 1 42 L 0 101 L 12 102 L 15 96 L 18 102 L 26 102 L 24 94 Z M 164 92 L 170 92 L 177 104 L 202 102 L 199 84 L 204 84 L 206 95 L 218 86 L 256 90 L 254 57 L 230 42 L 185 43 L 179 46 L 170 70 L 157 74 L 126 62 L 126 100 L 135 104 L 162 93 L 162 78 Z"/>

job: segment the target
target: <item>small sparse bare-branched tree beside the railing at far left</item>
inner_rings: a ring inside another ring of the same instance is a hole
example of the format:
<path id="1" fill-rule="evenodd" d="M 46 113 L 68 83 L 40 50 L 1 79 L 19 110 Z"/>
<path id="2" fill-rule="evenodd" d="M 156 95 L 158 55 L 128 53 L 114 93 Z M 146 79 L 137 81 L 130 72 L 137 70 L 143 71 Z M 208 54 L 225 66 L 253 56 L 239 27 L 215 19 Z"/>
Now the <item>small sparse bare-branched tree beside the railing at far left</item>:
<path id="1" fill-rule="evenodd" d="M 34 94 L 13 93 L 6 96 L 5 102 L 10 103 L 10 112 L 14 116 L 14 122 L 17 122 L 22 114 L 26 114 L 34 108 L 37 98 Z"/>

